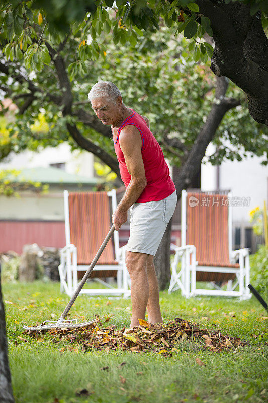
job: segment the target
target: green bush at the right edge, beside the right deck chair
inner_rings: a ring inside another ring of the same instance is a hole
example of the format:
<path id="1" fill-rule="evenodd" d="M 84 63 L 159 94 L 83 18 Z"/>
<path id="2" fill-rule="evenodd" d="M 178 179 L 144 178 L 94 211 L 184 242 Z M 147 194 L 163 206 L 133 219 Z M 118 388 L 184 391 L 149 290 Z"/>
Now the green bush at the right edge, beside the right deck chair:
<path id="1" fill-rule="evenodd" d="M 250 256 L 250 283 L 262 294 L 268 297 L 268 248 L 259 245 L 258 251 Z"/>

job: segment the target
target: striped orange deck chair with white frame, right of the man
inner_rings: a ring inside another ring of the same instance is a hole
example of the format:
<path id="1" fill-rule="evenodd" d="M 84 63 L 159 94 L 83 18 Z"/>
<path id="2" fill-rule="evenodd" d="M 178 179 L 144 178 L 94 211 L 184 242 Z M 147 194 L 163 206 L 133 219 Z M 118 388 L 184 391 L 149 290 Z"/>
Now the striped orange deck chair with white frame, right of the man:
<path id="1" fill-rule="evenodd" d="M 181 288 L 186 298 L 195 295 L 251 297 L 247 287 L 249 249 L 232 251 L 231 193 L 182 191 L 181 244 L 175 249 L 171 265 L 169 293 Z M 197 289 L 197 281 L 210 282 L 216 289 Z M 222 290 L 217 282 L 228 282 L 227 290 Z"/>

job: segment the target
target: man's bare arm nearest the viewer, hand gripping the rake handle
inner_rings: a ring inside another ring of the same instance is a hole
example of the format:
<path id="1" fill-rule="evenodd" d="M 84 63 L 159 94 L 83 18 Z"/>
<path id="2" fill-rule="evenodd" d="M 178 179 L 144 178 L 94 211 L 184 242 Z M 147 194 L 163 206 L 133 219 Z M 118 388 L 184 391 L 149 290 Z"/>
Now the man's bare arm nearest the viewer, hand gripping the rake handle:
<path id="1" fill-rule="evenodd" d="M 141 155 L 142 141 L 138 129 L 135 126 L 125 126 L 120 133 L 119 144 L 131 180 L 112 217 L 116 230 L 127 221 L 128 209 L 137 201 L 147 184 Z"/>

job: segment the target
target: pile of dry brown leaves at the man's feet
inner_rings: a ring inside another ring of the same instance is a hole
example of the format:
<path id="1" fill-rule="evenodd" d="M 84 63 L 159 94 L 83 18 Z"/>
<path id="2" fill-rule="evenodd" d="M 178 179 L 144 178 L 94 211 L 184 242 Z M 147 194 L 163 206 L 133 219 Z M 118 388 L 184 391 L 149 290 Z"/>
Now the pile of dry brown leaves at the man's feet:
<path id="1" fill-rule="evenodd" d="M 239 338 L 221 334 L 220 330 L 201 329 L 197 324 L 187 320 L 175 318 L 164 324 L 151 325 L 145 320 L 140 320 L 140 327 L 133 329 L 117 330 L 115 325 L 103 327 L 100 318 L 96 316 L 96 322 L 87 327 L 78 329 L 51 329 L 52 342 L 69 342 L 71 345 L 78 344 L 82 350 L 130 350 L 133 352 L 152 351 L 164 356 L 172 355 L 176 351 L 177 341 L 186 339 L 202 342 L 215 352 L 223 349 L 238 348 L 245 344 Z M 106 322 L 109 318 L 106 318 Z M 25 331 L 31 337 L 40 337 L 45 331 Z"/>

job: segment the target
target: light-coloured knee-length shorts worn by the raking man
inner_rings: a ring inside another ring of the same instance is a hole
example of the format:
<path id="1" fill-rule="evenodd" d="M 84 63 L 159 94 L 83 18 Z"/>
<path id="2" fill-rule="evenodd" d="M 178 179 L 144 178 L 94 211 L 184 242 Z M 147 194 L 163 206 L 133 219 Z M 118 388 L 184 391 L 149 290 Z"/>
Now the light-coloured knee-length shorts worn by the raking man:
<path id="1" fill-rule="evenodd" d="M 176 191 L 160 201 L 134 203 L 130 208 L 130 237 L 126 250 L 155 256 L 176 204 Z"/>

